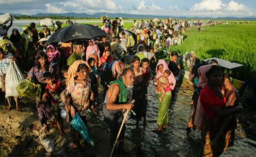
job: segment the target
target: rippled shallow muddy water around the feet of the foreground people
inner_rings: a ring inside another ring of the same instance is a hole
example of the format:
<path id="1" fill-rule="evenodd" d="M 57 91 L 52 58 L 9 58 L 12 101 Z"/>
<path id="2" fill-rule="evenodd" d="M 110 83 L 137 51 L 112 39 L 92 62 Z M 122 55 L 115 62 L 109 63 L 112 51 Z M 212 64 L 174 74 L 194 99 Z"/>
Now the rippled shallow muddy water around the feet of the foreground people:
<path id="1" fill-rule="evenodd" d="M 131 97 L 131 90 L 128 90 Z M 184 80 L 177 83 L 176 96 L 169 108 L 169 125 L 166 131 L 157 133 L 157 96 L 153 85 L 148 87 L 148 110 L 146 127 L 129 119 L 125 135 L 137 144 L 133 157 L 198 157 L 201 152 L 201 133 L 193 131 L 187 136 L 186 126 L 191 113 L 192 84 Z M 238 128 L 234 146 L 228 148 L 222 157 L 253 157 L 256 152 L 256 114 L 244 110 L 238 115 Z M 248 113 L 250 112 L 250 113 Z M 249 116 L 249 117 L 247 117 Z M 88 120 L 105 128 L 102 110 L 99 115 Z M 249 120 L 249 121 L 248 121 Z"/>

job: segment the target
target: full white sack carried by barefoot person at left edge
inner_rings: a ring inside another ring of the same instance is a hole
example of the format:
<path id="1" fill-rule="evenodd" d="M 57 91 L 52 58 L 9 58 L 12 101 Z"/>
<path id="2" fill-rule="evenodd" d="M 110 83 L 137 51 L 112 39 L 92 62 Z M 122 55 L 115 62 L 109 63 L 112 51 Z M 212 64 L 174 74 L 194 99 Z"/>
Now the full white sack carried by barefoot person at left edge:
<path id="1" fill-rule="evenodd" d="M 16 87 L 20 83 L 20 81 L 24 80 L 19 67 L 15 63 L 15 61 L 10 62 L 9 68 L 6 72 L 6 78 L 5 78 L 5 88 L 6 88 L 6 95 L 5 97 L 9 96 L 18 96 Z"/>

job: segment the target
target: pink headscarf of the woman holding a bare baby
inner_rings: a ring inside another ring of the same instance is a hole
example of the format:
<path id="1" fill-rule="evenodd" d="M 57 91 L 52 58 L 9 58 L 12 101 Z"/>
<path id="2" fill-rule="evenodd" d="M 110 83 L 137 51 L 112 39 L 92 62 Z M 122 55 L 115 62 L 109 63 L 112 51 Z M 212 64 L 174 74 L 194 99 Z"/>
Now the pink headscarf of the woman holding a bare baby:
<path id="1" fill-rule="evenodd" d="M 163 60 L 163 59 L 159 59 L 158 63 L 157 63 L 157 67 L 162 64 L 163 65 L 163 72 L 168 69 L 168 65 L 166 64 L 166 62 Z M 163 73 L 161 73 L 160 71 L 157 70 L 157 67 L 156 67 L 156 78 L 159 78 L 160 76 L 163 75 Z M 171 70 L 170 70 L 171 71 Z M 176 79 L 175 79 L 175 76 L 173 75 L 172 71 L 171 71 L 171 75 L 168 76 L 168 81 L 169 83 L 173 83 L 172 86 L 170 86 L 171 90 L 174 90 L 174 87 L 175 87 L 175 84 L 176 84 Z"/>

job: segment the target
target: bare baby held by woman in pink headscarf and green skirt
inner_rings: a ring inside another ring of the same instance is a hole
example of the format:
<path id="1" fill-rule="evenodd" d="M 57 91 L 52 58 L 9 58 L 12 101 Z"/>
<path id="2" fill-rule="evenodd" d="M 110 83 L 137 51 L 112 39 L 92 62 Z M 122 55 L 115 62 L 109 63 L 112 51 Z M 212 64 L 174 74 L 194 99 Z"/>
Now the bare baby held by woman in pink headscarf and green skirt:
<path id="1" fill-rule="evenodd" d="M 168 77 L 171 75 L 171 71 L 166 69 L 163 72 L 163 75 L 160 76 L 159 78 L 157 78 L 160 82 L 162 82 L 163 84 L 167 85 L 167 88 L 163 88 L 159 85 L 157 85 L 156 90 L 159 90 L 162 93 L 162 96 L 159 98 L 160 102 L 162 102 L 163 97 L 165 96 L 165 92 L 169 92 L 171 91 L 170 86 L 172 86 L 173 84 L 171 84 L 168 80 Z"/>

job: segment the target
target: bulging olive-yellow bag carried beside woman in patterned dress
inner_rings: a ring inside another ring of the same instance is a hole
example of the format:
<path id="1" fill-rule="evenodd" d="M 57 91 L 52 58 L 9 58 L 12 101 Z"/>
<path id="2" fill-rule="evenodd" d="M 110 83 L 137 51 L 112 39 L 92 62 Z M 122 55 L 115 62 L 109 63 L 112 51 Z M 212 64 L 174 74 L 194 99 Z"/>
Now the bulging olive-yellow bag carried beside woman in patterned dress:
<path id="1" fill-rule="evenodd" d="M 20 96 L 36 96 L 38 100 L 41 100 L 41 85 L 33 83 L 30 80 L 23 80 L 18 84 L 16 90 Z"/>

